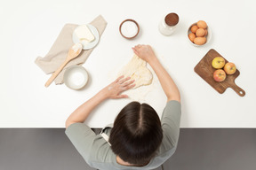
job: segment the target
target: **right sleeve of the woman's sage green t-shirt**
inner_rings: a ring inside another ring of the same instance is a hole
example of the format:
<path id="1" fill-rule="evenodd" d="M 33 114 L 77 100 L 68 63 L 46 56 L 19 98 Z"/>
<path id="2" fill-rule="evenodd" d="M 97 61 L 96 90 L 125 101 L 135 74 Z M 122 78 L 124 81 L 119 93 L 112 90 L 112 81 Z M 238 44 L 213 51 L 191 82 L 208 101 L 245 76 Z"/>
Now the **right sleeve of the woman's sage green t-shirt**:
<path id="1" fill-rule="evenodd" d="M 162 114 L 163 143 L 165 148 L 176 148 L 180 135 L 181 105 L 176 100 L 167 102 Z"/>

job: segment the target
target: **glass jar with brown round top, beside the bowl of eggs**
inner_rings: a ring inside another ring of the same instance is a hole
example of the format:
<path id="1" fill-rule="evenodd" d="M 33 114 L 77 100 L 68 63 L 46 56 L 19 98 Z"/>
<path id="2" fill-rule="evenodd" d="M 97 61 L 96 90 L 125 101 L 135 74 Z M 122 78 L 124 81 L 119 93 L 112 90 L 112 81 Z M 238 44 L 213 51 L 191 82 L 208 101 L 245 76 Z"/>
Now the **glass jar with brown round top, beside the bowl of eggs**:
<path id="1" fill-rule="evenodd" d="M 161 20 L 158 25 L 159 32 L 162 35 L 169 36 L 175 31 L 179 22 L 179 16 L 176 13 L 169 13 Z"/>

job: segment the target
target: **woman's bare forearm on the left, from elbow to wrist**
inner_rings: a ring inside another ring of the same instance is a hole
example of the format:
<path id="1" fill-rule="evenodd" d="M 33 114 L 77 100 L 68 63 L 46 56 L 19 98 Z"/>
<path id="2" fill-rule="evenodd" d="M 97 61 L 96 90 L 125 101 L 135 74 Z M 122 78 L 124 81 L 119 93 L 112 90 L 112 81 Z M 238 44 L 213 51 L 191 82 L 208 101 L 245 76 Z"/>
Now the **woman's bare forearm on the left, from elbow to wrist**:
<path id="1" fill-rule="evenodd" d="M 105 95 L 104 91 L 100 90 L 99 93 L 86 101 L 84 104 L 80 105 L 76 111 L 70 114 L 68 120 L 66 120 L 66 128 L 73 123 L 84 122 L 92 110 L 107 98 L 108 97 Z"/>

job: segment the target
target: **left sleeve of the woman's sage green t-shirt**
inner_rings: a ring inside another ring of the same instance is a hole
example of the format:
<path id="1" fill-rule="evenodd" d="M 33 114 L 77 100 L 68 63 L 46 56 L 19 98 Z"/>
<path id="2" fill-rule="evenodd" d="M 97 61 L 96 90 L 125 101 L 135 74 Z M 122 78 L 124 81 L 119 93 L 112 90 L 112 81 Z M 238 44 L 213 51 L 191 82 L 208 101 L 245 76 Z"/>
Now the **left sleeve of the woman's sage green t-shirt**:
<path id="1" fill-rule="evenodd" d="M 95 133 L 84 123 L 73 123 L 65 131 L 76 150 L 88 162 Z"/>

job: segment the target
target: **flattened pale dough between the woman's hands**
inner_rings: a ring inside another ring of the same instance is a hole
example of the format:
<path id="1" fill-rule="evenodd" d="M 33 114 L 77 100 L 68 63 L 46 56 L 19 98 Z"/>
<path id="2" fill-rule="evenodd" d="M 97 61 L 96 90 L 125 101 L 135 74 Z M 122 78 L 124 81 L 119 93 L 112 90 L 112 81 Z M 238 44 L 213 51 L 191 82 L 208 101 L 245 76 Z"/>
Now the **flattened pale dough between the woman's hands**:
<path id="1" fill-rule="evenodd" d="M 130 76 L 131 80 L 135 80 L 135 87 L 133 89 L 149 85 L 152 83 L 153 75 L 146 65 L 146 61 L 134 54 L 132 60 L 121 69 L 118 75 Z"/>

